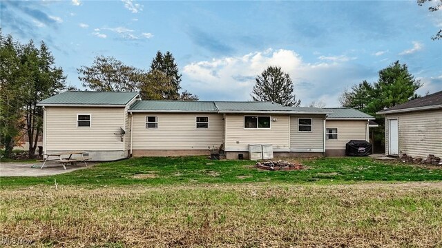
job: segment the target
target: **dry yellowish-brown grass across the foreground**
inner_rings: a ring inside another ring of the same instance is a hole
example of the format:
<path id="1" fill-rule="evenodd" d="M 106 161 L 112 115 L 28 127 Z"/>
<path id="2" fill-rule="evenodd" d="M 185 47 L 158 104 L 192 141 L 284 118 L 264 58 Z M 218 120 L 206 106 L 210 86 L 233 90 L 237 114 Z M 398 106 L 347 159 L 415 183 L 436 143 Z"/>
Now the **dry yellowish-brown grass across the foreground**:
<path id="1" fill-rule="evenodd" d="M 0 236 L 36 247 L 437 247 L 442 183 L 35 187 L 0 192 Z"/>

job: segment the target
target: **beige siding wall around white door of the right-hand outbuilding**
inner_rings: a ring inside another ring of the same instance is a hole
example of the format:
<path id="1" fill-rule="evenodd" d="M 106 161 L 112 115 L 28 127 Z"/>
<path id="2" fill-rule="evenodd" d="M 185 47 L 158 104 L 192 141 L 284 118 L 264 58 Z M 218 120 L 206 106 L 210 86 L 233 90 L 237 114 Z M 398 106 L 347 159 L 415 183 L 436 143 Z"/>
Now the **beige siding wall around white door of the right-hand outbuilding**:
<path id="1" fill-rule="evenodd" d="M 442 110 L 385 116 L 385 154 L 388 154 L 388 119 L 398 119 L 399 152 L 425 158 L 442 156 Z"/>

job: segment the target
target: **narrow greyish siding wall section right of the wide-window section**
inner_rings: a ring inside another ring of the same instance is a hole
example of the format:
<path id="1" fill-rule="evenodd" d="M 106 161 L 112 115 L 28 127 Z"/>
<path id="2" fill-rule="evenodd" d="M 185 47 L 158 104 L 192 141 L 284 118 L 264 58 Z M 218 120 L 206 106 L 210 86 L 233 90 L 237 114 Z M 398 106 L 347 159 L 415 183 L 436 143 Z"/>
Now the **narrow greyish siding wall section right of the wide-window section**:
<path id="1" fill-rule="evenodd" d="M 298 118 L 311 118 L 311 132 L 299 132 Z M 290 116 L 290 150 L 292 152 L 324 152 L 324 116 Z"/>

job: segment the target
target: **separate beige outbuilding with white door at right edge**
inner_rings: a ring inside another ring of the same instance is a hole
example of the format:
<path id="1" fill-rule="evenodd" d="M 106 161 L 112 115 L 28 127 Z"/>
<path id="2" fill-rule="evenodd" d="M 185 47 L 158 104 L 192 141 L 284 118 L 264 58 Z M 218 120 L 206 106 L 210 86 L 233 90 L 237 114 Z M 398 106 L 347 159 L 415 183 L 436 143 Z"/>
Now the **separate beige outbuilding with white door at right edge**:
<path id="1" fill-rule="evenodd" d="M 442 156 L 442 91 L 376 114 L 385 116 L 385 154 Z"/>

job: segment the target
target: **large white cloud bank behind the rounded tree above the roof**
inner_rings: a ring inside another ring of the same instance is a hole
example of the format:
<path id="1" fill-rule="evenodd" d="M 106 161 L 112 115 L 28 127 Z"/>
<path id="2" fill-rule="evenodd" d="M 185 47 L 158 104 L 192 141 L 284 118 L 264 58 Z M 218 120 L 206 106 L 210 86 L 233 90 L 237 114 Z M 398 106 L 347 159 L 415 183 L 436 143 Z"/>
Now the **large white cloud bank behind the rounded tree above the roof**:
<path id="1" fill-rule="evenodd" d="M 251 100 L 255 78 L 269 65 L 278 65 L 291 75 L 297 99 L 305 105 L 323 101 L 337 106 L 346 87 L 376 76 L 376 70 L 349 61 L 307 63 L 294 50 L 265 50 L 242 56 L 226 56 L 185 65 L 183 87 L 202 100 Z"/>

